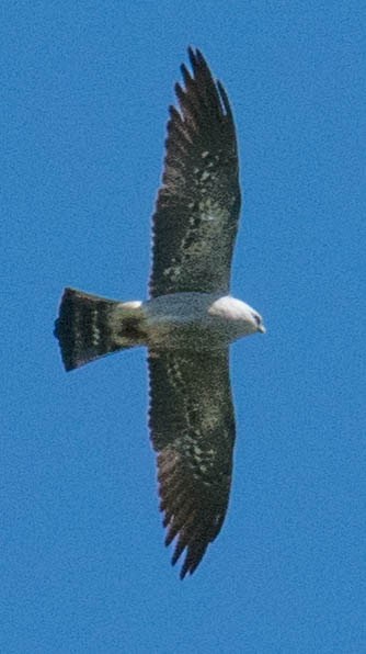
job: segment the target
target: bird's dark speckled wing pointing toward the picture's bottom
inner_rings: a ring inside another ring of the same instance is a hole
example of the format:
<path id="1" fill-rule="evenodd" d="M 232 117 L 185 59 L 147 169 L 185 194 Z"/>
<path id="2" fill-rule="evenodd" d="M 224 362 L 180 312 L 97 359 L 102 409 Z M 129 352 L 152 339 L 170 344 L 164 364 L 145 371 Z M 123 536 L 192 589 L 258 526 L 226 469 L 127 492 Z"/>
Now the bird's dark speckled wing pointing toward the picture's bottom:
<path id="1" fill-rule="evenodd" d="M 229 499 L 235 416 L 228 350 L 149 352 L 150 415 L 167 527 L 176 537 L 174 564 L 192 574 L 220 531 Z"/>

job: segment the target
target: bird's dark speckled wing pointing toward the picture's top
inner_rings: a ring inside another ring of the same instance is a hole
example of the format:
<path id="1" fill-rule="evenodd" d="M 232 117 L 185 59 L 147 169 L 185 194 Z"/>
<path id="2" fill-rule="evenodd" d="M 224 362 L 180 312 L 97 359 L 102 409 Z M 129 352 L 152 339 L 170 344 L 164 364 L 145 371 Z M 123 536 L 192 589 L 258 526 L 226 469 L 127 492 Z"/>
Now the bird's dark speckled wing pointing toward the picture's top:
<path id="1" fill-rule="evenodd" d="M 199 50 L 181 67 L 180 111 L 170 108 L 167 155 L 153 215 L 152 297 L 229 291 L 240 211 L 238 154 L 225 89 Z"/>

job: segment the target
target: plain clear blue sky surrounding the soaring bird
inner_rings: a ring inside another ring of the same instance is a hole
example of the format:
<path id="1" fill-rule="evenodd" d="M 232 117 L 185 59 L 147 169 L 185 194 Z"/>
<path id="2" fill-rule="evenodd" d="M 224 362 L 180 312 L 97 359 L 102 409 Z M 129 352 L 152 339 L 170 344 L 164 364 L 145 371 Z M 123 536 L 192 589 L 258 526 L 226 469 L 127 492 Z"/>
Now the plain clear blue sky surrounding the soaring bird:
<path id="1" fill-rule="evenodd" d="M 365 634 L 363 8 L 1 4 L 1 652 L 340 652 Z M 61 290 L 146 295 L 186 46 L 225 83 L 242 223 L 227 520 L 163 548 L 142 350 L 62 370 Z"/>

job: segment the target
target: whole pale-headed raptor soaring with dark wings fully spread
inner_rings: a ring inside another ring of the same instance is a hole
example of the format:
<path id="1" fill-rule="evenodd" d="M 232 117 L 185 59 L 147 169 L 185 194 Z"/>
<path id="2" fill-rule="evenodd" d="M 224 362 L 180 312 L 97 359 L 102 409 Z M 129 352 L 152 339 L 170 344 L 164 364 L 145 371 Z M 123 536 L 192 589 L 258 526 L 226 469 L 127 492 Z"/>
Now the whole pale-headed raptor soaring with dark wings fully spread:
<path id="1" fill-rule="evenodd" d="M 65 289 L 55 336 L 65 369 L 126 348 L 148 350 L 149 428 L 172 563 L 192 574 L 219 533 L 230 493 L 235 413 L 229 346 L 264 332 L 230 295 L 240 212 L 238 147 L 227 93 L 198 49 L 175 84 L 162 184 L 152 217 L 149 298 Z"/>

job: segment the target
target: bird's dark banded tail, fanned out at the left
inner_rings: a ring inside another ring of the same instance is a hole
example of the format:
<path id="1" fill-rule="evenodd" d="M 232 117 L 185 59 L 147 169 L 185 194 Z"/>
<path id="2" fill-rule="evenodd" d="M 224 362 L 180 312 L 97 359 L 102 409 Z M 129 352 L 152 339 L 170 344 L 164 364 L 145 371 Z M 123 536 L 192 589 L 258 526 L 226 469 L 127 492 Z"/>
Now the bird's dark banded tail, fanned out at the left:
<path id="1" fill-rule="evenodd" d="M 144 345 L 140 305 L 65 289 L 54 331 L 65 369 L 73 370 L 111 352 Z"/>

